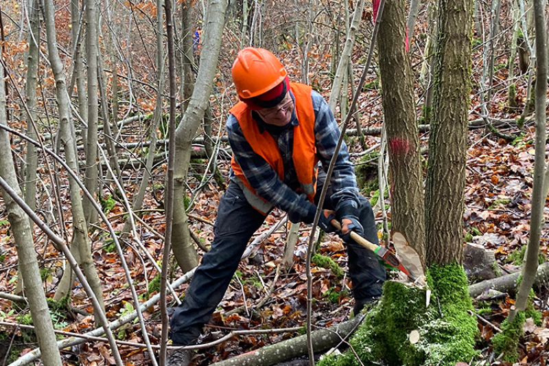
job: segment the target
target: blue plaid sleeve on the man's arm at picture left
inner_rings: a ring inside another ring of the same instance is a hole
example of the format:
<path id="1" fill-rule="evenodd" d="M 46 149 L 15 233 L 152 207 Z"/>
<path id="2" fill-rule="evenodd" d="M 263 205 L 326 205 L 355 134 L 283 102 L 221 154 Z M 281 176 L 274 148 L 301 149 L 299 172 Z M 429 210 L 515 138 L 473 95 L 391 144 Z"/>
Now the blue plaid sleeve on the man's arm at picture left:
<path id="1" fill-rule="evenodd" d="M 244 176 L 255 192 L 274 207 L 288 212 L 290 217 L 298 218 L 299 221 L 312 222 L 316 206 L 285 185 L 267 161 L 253 151 L 233 115 L 229 115 L 226 129 L 235 161 L 242 168 Z"/>

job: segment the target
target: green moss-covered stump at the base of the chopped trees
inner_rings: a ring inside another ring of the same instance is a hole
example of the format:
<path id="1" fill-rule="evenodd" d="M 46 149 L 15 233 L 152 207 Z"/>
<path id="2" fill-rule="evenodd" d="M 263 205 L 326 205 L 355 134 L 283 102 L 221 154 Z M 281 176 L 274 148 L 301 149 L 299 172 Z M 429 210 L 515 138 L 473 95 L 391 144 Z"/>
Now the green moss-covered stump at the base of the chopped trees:
<path id="1" fill-rule="evenodd" d="M 435 266 L 428 272 L 432 289 L 388 281 L 383 296 L 369 311 L 351 338 L 349 350 L 324 358 L 322 366 L 364 365 L 441 365 L 469 363 L 476 354 L 476 319 L 467 292 L 467 277 L 462 266 Z M 419 332 L 410 342 L 409 334 Z M 355 355 L 356 354 L 356 355 Z"/>

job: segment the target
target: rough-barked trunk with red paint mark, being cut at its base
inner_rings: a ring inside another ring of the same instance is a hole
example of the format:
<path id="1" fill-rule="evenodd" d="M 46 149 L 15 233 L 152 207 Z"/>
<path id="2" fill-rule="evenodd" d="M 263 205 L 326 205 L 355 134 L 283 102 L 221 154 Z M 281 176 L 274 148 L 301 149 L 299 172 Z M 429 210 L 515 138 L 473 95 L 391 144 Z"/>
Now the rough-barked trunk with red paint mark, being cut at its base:
<path id="1" fill-rule="evenodd" d="M 391 229 L 401 231 L 420 257 L 425 258 L 423 172 L 412 66 L 404 44 L 404 1 L 386 2 L 382 16 L 377 48 L 390 158 Z"/>

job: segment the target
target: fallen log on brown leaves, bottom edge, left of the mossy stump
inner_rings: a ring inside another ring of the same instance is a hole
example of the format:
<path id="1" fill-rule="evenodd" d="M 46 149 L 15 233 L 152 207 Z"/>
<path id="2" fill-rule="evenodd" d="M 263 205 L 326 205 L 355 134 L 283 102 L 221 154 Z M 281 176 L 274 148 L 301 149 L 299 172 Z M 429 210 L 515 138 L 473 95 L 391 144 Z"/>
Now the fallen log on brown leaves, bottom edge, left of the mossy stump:
<path id="1" fill-rule="evenodd" d="M 357 328 L 362 319 L 364 319 L 364 314 L 338 325 L 332 325 L 327 329 L 312 332 L 314 352 L 323 352 L 338 345 L 342 339 L 346 339 Z M 274 343 L 274 345 L 267 345 L 259 350 L 213 363 L 211 366 L 270 366 L 304 354 L 307 354 L 307 334 Z"/>

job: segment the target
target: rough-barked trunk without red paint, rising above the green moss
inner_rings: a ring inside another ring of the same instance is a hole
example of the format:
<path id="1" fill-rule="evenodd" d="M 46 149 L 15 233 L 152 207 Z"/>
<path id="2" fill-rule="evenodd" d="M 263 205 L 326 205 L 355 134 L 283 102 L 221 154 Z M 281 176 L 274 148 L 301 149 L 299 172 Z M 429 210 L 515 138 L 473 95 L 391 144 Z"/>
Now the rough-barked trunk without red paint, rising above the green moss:
<path id="1" fill-rule="evenodd" d="M 463 262 L 472 6 L 471 0 L 439 0 L 434 116 L 425 187 L 428 266 Z"/>

